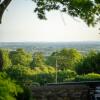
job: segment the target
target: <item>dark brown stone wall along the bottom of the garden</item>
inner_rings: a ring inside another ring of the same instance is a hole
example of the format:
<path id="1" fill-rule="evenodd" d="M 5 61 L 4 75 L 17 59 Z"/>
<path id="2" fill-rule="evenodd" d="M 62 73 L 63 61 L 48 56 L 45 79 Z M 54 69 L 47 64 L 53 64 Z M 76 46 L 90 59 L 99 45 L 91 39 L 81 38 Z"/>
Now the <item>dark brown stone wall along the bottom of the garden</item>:
<path id="1" fill-rule="evenodd" d="M 89 100 L 89 87 L 85 85 L 54 85 L 33 87 L 36 100 Z"/>

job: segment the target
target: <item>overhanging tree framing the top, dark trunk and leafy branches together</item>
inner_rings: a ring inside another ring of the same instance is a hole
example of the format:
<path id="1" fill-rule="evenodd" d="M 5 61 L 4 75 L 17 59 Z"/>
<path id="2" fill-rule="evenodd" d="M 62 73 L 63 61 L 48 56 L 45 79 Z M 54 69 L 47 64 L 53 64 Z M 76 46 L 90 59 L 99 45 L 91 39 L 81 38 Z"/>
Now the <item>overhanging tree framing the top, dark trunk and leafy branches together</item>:
<path id="1" fill-rule="evenodd" d="M 0 23 L 3 13 L 13 0 L 0 0 Z M 80 17 L 88 25 L 100 21 L 100 0 L 32 0 L 37 6 L 34 12 L 40 19 L 46 19 L 46 12 L 60 10 L 71 16 Z"/>

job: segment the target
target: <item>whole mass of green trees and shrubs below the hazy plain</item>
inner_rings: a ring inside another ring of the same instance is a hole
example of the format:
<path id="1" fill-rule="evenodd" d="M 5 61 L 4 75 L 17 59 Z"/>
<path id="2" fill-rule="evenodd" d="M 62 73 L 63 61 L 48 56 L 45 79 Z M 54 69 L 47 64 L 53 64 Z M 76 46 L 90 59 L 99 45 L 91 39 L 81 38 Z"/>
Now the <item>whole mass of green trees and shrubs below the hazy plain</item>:
<path id="1" fill-rule="evenodd" d="M 56 81 L 100 80 L 99 61 L 100 52 L 96 51 L 83 55 L 64 48 L 45 57 L 21 48 L 0 49 L 0 100 L 33 100 L 32 87 Z"/>

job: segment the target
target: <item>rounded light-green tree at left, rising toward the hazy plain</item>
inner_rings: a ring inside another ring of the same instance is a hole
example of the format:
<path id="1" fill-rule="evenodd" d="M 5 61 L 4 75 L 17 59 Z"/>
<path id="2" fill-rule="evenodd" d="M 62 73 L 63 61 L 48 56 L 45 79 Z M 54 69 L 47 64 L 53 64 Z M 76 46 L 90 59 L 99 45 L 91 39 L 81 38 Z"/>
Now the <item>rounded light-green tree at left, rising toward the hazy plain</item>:
<path id="1" fill-rule="evenodd" d="M 32 55 L 26 52 L 24 49 L 19 48 L 16 51 L 10 52 L 10 59 L 13 65 L 29 66 L 32 61 Z"/>

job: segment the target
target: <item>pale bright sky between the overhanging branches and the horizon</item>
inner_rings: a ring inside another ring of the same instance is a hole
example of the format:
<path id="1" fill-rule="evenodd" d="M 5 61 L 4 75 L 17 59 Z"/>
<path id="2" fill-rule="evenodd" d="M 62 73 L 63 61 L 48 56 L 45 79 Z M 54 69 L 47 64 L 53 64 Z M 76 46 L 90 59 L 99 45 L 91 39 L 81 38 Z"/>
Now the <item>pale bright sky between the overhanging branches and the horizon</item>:
<path id="1" fill-rule="evenodd" d="M 0 24 L 0 42 L 72 42 L 99 41 L 99 26 L 88 27 L 82 20 L 59 11 L 40 20 L 32 0 L 13 0 Z"/>

